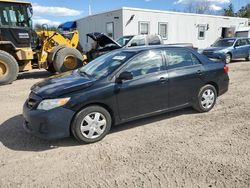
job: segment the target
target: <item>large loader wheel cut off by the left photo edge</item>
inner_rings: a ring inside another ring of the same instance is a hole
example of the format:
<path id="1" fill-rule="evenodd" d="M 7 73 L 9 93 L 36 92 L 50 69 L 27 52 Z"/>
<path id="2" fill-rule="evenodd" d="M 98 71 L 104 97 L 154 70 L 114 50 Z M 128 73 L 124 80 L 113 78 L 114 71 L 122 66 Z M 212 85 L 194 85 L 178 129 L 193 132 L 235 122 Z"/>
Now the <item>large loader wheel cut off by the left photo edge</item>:
<path id="1" fill-rule="evenodd" d="M 19 67 L 16 59 L 0 50 L 0 85 L 10 84 L 17 79 Z"/>

